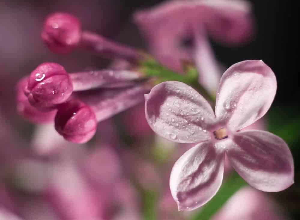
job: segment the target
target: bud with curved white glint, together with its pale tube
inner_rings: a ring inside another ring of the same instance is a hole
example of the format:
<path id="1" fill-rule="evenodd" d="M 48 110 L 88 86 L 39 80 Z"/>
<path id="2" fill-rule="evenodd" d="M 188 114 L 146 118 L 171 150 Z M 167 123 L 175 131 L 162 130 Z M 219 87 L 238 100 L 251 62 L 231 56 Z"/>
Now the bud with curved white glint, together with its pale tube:
<path id="1" fill-rule="evenodd" d="M 58 63 L 42 63 L 30 74 L 24 92 L 32 106 L 47 111 L 66 102 L 73 91 L 125 87 L 141 78 L 138 72 L 114 69 L 68 74 Z"/>

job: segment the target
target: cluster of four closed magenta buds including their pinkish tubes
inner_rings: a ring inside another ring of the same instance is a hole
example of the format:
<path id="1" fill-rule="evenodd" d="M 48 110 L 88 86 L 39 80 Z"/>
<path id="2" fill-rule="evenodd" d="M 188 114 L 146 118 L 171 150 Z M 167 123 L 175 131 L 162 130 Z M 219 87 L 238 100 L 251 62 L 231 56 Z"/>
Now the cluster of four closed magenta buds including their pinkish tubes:
<path id="1" fill-rule="evenodd" d="M 56 53 L 84 47 L 123 61 L 110 69 L 77 73 L 67 73 L 57 63 L 42 63 L 17 86 L 18 111 L 29 120 L 54 119 L 57 132 L 65 139 L 84 143 L 94 136 L 98 121 L 144 101 L 151 87 L 132 68 L 142 53 L 82 32 L 79 20 L 65 13 L 50 15 L 41 37 Z"/>

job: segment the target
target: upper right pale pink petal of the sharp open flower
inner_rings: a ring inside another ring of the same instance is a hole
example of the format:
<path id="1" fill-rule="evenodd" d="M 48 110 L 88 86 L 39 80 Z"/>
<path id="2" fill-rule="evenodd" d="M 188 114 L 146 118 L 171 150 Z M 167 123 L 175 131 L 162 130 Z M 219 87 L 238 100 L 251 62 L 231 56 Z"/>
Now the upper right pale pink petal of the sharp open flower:
<path id="1" fill-rule="evenodd" d="M 241 130 L 265 115 L 277 88 L 276 77 L 262 60 L 229 67 L 217 92 L 216 117 L 231 130 Z"/>

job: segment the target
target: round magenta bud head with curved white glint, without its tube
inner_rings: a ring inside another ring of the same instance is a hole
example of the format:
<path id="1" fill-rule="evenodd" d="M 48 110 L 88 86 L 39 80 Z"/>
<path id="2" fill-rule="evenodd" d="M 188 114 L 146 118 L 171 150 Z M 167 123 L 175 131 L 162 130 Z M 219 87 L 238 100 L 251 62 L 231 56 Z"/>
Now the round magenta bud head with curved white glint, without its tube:
<path id="1" fill-rule="evenodd" d="M 57 63 L 42 63 L 29 76 L 24 93 L 31 105 L 40 110 L 56 108 L 71 96 L 73 86 L 65 69 Z"/>

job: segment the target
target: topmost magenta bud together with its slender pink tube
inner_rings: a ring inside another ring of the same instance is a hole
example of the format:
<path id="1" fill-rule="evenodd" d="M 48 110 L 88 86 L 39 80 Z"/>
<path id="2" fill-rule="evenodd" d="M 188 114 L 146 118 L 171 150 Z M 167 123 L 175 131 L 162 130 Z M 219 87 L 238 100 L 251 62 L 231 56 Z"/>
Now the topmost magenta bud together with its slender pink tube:
<path id="1" fill-rule="evenodd" d="M 51 14 L 44 23 L 41 37 L 55 53 L 69 53 L 76 47 L 92 50 L 107 58 L 137 61 L 143 54 L 116 44 L 92 32 L 81 31 L 80 21 L 67 13 Z"/>

